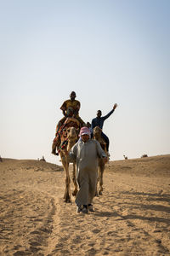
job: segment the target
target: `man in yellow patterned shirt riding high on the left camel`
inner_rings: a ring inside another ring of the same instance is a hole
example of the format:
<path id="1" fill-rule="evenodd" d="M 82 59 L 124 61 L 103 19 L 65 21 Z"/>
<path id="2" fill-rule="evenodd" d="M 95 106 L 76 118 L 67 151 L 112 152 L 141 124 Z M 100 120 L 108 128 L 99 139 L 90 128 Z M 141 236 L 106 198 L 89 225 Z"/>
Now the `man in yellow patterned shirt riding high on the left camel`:
<path id="1" fill-rule="evenodd" d="M 84 121 L 80 118 L 79 116 L 79 110 L 80 110 L 80 102 L 77 101 L 76 98 L 76 92 L 71 91 L 70 95 L 70 100 L 66 100 L 63 102 L 62 106 L 60 109 L 63 112 L 64 117 L 59 120 L 59 123 L 57 124 L 56 127 L 56 133 L 55 133 L 55 138 L 54 138 L 54 143 L 52 145 L 52 154 L 56 154 L 56 148 L 59 146 L 59 129 L 61 128 L 62 125 L 64 125 L 65 120 L 67 118 L 75 118 L 80 122 L 81 127 L 85 125 Z"/>

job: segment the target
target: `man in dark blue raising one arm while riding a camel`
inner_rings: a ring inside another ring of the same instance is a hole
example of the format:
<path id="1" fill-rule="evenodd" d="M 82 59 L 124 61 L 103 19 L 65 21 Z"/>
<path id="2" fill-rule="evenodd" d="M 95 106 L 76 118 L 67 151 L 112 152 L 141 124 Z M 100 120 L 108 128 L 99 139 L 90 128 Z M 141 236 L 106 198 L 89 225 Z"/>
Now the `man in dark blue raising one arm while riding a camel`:
<path id="1" fill-rule="evenodd" d="M 113 109 L 111 110 L 111 112 L 106 114 L 105 116 L 101 116 L 102 112 L 101 112 L 101 110 L 98 110 L 97 117 L 92 119 L 92 131 L 94 130 L 94 127 L 96 127 L 96 126 L 99 126 L 99 128 L 103 130 L 103 125 L 104 125 L 105 119 L 108 119 L 111 116 L 111 114 L 115 111 L 116 107 L 117 107 L 117 104 L 115 104 L 113 106 Z M 110 143 L 109 137 L 107 137 L 103 131 L 102 131 L 101 135 L 105 140 L 106 150 L 109 154 L 109 143 Z"/>

